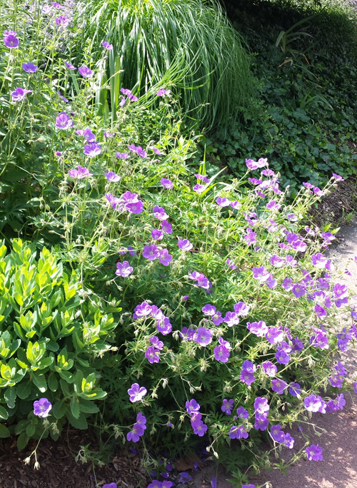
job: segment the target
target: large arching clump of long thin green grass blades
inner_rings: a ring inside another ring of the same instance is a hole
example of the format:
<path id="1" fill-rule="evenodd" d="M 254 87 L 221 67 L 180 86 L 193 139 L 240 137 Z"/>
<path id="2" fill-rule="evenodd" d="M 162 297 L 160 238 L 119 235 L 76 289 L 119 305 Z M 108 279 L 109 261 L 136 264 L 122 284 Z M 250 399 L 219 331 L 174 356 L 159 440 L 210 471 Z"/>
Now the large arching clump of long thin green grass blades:
<path id="1" fill-rule="evenodd" d="M 94 58 L 101 41 L 114 46 L 108 75 L 123 70 L 115 89 L 144 96 L 149 86 L 165 84 L 178 96 L 186 124 L 201 129 L 222 128 L 250 110 L 244 42 L 215 0 L 90 0 L 77 21 L 83 19 L 81 46 L 90 39 Z"/>

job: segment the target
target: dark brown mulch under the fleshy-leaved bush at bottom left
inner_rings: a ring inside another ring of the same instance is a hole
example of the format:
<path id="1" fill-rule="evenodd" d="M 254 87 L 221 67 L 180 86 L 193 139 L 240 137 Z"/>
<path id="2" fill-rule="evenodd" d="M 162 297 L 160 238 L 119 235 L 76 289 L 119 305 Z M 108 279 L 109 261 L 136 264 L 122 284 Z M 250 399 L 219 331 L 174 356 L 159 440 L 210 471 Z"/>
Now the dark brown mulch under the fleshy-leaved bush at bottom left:
<path id="1" fill-rule="evenodd" d="M 16 438 L 1 439 L 0 442 L 0 487 L 1 488 L 96 488 L 115 482 L 118 487 L 137 488 L 146 486 L 146 476 L 141 468 L 139 455 L 121 450 L 102 467 L 95 462 L 76 462 L 75 457 L 82 446 L 89 446 L 91 452 L 99 446 L 88 432 L 69 430 L 60 439 L 41 440 L 37 449 L 39 469 L 34 469 L 35 459 L 24 462 L 35 449 L 37 441 L 31 439 L 23 451 L 16 448 Z M 79 457 L 80 458 L 80 457 Z"/>

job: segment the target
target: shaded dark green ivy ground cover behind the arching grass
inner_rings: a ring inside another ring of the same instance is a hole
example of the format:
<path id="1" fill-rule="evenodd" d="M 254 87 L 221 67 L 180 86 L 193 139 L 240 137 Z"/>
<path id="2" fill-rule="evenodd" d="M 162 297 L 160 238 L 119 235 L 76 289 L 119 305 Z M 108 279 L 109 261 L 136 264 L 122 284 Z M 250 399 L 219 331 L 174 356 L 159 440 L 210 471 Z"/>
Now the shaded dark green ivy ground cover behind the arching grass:
<path id="1" fill-rule="evenodd" d="M 251 49 L 259 95 L 253 118 L 208 135 L 210 160 L 241 174 L 261 154 L 293 192 L 336 169 L 356 174 L 356 12 L 341 1 L 223 3 Z"/>

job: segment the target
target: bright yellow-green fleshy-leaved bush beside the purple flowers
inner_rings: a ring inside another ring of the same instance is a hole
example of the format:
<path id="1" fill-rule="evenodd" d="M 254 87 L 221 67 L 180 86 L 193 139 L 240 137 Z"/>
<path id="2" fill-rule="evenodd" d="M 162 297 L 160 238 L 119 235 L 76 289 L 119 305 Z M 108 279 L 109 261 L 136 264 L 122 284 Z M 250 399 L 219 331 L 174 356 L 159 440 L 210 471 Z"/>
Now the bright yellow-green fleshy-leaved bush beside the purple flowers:
<path id="1" fill-rule="evenodd" d="M 95 360 L 110 350 L 116 323 L 47 248 L 37 258 L 34 245 L 15 239 L 9 254 L 5 245 L 0 252 L 0 415 L 10 426 L 1 437 L 16 432 L 22 449 L 42 432 L 33 413 L 39 395 L 53 405 L 55 439 L 66 420 L 88 427 L 86 418 L 99 412 L 94 400 L 106 396 Z"/>

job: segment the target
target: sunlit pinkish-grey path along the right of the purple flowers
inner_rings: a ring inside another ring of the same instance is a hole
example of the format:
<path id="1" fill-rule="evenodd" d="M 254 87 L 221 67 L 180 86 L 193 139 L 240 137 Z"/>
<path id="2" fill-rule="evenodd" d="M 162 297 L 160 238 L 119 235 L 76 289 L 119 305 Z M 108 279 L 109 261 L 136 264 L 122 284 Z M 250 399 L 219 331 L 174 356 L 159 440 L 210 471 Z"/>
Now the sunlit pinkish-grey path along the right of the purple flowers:
<path id="1" fill-rule="evenodd" d="M 343 226 L 338 232 L 329 257 L 340 273 L 339 282 L 348 285 L 357 295 L 357 218 L 350 225 Z M 348 270 L 348 273 L 346 273 Z M 354 299 L 357 303 L 357 296 Z M 357 371 L 357 350 L 348 350 L 343 357 L 343 364 L 349 373 Z M 311 444 L 323 447 L 323 462 L 311 462 L 300 459 L 291 466 L 286 474 L 278 469 L 264 471 L 259 476 L 251 477 L 250 483 L 256 488 L 357 488 L 357 395 L 343 392 L 346 407 L 342 411 L 327 415 L 313 414 L 313 422 L 318 427 L 316 435 L 312 427 L 304 427 L 298 432 L 291 429 L 295 438 L 295 447 L 291 452 L 283 449 L 279 458 L 288 461 L 294 452 L 304 446 L 303 434 L 308 434 Z M 194 474 L 193 488 L 211 488 L 211 479 L 216 477 L 217 488 L 241 488 L 228 483 L 229 476 L 223 470 L 206 467 Z"/>

